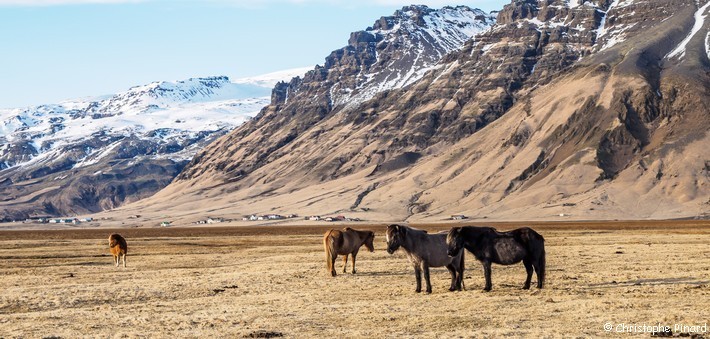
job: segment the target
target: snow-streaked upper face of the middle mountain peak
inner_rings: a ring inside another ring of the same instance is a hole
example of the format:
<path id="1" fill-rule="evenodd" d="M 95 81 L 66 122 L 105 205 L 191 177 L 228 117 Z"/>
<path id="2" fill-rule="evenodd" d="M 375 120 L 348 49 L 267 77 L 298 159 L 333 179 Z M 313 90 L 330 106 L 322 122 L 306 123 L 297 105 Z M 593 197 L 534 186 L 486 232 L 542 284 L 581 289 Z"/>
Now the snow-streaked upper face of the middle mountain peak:
<path id="1" fill-rule="evenodd" d="M 333 106 L 352 107 L 377 93 L 402 88 L 436 67 L 441 58 L 495 23 L 495 17 L 465 6 L 435 10 L 408 6 L 382 17 L 363 32 L 353 33 L 350 45 L 367 43 L 374 51 L 372 67 L 364 68 L 351 83 L 330 91 Z M 391 50 L 396 49 L 397 53 Z M 392 57 L 396 54 L 397 57 Z M 326 65 L 327 67 L 327 65 Z M 396 70 L 396 71 L 395 71 Z"/>

